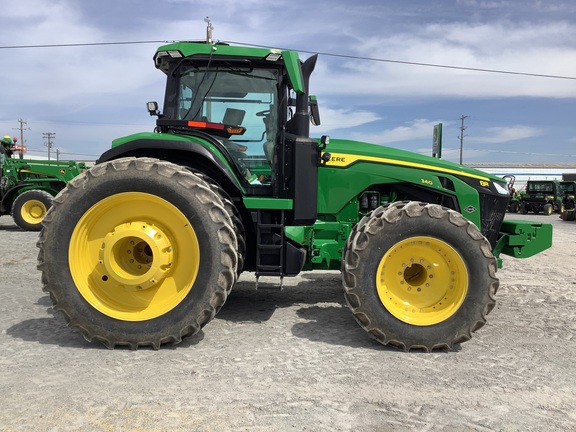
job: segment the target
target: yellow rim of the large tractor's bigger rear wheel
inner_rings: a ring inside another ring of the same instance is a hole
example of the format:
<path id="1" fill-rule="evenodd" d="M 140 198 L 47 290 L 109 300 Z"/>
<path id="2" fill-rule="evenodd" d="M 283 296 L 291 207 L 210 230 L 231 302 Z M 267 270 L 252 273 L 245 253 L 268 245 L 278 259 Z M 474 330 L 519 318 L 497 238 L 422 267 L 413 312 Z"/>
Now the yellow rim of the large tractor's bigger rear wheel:
<path id="1" fill-rule="evenodd" d="M 157 318 L 188 295 L 200 267 L 194 228 L 174 205 L 126 192 L 94 204 L 70 238 L 72 279 L 84 299 L 123 321 Z"/>

